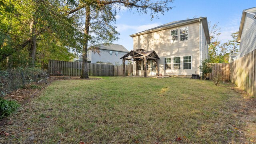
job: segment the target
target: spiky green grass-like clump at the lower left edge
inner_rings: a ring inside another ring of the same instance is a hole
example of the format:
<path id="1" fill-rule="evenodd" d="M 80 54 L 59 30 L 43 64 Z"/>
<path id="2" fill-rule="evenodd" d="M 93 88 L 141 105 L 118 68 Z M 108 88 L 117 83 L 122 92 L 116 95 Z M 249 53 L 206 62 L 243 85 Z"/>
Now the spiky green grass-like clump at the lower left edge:
<path id="1" fill-rule="evenodd" d="M 20 108 L 20 104 L 18 104 L 14 100 L 5 100 L 4 98 L 0 98 L 0 120 L 5 118 L 6 116 L 10 116 L 12 113 L 16 112 Z"/>

